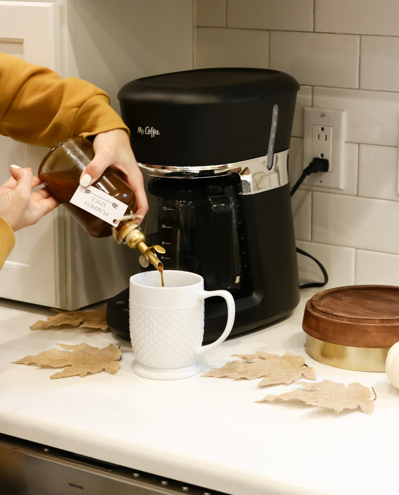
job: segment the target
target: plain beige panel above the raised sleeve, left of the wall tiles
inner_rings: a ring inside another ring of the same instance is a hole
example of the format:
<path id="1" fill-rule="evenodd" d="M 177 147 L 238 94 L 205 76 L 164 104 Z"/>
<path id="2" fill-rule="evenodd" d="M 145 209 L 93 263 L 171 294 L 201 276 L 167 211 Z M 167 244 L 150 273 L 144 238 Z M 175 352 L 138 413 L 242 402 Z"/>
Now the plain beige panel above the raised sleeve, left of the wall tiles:
<path id="1" fill-rule="evenodd" d="M 116 95 L 132 79 L 193 68 L 192 0 L 53 1 L 60 6 L 60 75 L 96 84 L 118 112 Z"/>

